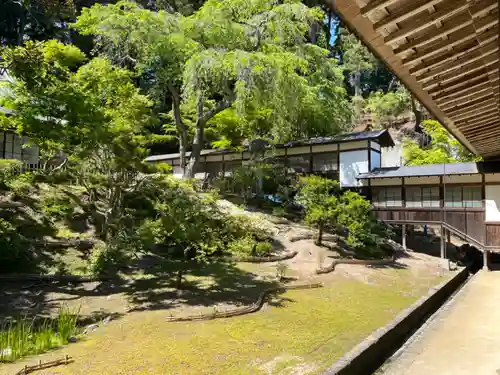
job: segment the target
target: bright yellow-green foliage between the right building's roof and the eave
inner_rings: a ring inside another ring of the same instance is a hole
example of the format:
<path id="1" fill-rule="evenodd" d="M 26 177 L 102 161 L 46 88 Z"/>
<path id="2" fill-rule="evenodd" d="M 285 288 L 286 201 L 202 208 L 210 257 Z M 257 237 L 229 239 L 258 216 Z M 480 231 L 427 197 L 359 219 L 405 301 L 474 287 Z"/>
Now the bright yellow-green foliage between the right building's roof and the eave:
<path id="1" fill-rule="evenodd" d="M 450 164 L 480 161 L 464 149 L 460 142 L 454 138 L 439 122 L 425 120 L 422 129 L 430 136 L 430 145 L 421 148 L 410 138 L 403 141 L 403 157 L 405 165 L 424 164 Z"/>

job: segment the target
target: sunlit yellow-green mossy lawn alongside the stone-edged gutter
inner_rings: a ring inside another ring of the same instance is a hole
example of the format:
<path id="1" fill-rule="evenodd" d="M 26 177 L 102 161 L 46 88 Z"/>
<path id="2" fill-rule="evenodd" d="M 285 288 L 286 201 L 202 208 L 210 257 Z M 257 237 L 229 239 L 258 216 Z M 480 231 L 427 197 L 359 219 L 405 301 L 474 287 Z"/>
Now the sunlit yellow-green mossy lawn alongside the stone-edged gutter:
<path id="1" fill-rule="evenodd" d="M 368 281 L 333 278 L 231 319 L 169 323 L 168 310 L 131 314 L 65 349 L 75 363 L 46 374 L 319 374 L 443 279 L 385 269 Z"/>

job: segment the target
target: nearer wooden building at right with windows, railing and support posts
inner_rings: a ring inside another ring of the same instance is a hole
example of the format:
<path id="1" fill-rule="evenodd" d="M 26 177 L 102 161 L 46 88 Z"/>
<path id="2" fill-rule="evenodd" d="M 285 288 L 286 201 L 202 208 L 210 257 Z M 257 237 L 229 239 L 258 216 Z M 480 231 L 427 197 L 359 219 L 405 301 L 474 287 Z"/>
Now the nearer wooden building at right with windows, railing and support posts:
<path id="1" fill-rule="evenodd" d="M 387 223 L 429 224 L 483 251 L 500 252 L 500 162 L 378 168 L 358 175 L 375 214 Z M 403 244 L 405 246 L 405 244 Z"/>

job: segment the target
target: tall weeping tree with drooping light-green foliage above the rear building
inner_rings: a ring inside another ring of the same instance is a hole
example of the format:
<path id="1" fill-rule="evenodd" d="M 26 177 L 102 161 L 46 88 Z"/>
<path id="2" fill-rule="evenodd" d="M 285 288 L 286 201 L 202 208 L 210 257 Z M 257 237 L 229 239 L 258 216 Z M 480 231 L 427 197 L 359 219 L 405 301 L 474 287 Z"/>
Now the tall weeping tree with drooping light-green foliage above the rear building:
<path id="1" fill-rule="evenodd" d="M 148 89 L 165 112 L 171 106 L 181 164 L 193 176 L 207 126 L 224 133 L 224 123 L 234 127 L 228 117 L 233 134 L 278 141 L 349 125 L 342 70 L 307 39 L 323 18 L 297 0 L 209 0 L 189 17 L 121 1 L 84 10 L 76 27 L 115 63 L 152 77 Z"/>

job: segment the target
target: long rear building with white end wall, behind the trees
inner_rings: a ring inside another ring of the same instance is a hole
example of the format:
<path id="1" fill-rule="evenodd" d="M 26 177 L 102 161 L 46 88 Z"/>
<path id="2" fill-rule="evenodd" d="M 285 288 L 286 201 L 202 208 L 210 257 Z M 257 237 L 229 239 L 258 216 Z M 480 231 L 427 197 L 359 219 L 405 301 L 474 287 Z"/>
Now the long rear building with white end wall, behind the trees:
<path id="1" fill-rule="evenodd" d="M 265 157 L 285 166 L 289 173 L 322 174 L 338 180 L 343 187 L 357 187 L 361 184 L 357 176 L 379 168 L 382 150 L 393 146 L 394 142 L 387 130 L 376 130 L 269 146 Z M 251 158 L 252 154 L 247 150 L 203 150 L 195 177 L 206 179 L 221 173 L 227 175 Z M 173 173 L 182 176 L 179 154 L 153 155 L 145 160 L 169 163 Z"/>

